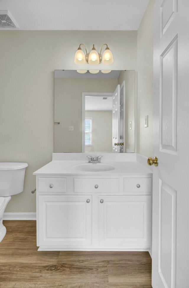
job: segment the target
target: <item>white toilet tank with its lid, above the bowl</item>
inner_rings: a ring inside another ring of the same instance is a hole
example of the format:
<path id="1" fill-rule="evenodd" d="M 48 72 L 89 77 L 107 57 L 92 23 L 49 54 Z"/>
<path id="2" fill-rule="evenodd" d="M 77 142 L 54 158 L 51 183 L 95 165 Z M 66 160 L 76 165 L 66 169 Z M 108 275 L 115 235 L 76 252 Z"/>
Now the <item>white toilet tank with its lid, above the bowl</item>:
<path id="1" fill-rule="evenodd" d="M 0 197 L 23 191 L 27 163 L 0 162 Z"/>

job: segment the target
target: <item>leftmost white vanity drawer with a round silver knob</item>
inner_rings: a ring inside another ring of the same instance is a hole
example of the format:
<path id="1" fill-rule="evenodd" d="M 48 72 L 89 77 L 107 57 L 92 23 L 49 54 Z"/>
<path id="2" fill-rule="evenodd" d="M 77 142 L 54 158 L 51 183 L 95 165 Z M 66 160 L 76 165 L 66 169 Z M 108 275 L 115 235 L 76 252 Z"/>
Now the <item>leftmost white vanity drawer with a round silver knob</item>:
<path id="1" fill-rule="evenodd" d="M 38 192 L 66 192 L 66 178 L 38 178 Z"/>

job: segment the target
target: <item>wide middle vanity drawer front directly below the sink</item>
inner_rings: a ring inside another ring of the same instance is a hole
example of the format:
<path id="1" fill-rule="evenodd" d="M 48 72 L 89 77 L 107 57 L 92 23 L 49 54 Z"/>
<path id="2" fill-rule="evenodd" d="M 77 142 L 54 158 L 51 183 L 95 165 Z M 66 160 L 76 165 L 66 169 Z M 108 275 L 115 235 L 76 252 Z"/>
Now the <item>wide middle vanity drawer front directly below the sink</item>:
<path id="1" fill-rule="evenodd" d="M 119 178 L 74 178 L 74 192 L 119 192 Z"/>

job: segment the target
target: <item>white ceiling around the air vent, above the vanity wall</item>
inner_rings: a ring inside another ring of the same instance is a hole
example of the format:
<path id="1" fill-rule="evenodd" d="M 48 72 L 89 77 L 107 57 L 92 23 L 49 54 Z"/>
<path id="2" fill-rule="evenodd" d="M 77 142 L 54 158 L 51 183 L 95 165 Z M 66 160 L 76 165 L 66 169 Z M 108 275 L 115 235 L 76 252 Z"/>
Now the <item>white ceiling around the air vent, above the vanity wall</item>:
<path id="1" fill-rule="evenodd" d="M 0 30 L 138 30 L 149 0 L 0 0 L 19 28 Z"/>

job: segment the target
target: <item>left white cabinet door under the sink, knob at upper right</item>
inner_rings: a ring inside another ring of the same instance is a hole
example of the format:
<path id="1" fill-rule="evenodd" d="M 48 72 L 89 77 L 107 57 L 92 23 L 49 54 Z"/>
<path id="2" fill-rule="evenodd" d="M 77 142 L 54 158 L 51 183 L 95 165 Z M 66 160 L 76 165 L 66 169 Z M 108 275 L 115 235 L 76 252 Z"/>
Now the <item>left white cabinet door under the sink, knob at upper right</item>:
<path id="1" fill-rule="evenodd" d="M 91 202 L 88 195 L 38 196 L 38 246 L 91 245 Z"/>

